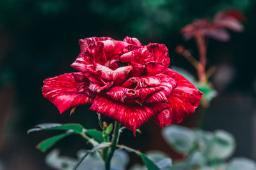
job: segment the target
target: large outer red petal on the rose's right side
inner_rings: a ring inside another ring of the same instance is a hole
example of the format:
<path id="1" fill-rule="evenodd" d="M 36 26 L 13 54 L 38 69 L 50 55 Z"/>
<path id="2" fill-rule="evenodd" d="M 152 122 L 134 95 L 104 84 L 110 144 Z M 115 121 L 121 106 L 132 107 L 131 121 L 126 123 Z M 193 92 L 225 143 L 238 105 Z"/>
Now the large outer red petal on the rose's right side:
<path id="1" fill-rule="evenodd" d="M 164 74 L 172 77 L 177 81 L 178 85 L 168 97 L 170 109 L 164 110 L 154 117 L 154 121 L 160 127 L 172 123 L 179 123 L 194 113 L 203 95 L 192 83 L 172 69 L 167 69 L 164 71 Z"/>

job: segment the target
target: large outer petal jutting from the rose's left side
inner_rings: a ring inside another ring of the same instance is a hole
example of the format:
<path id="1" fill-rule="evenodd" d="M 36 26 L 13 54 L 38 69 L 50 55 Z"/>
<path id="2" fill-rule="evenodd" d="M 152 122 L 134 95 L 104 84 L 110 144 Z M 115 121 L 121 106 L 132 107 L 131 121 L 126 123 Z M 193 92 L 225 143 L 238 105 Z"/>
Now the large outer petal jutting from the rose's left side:
<path id="1" fill-rule="evenodd" d="M 77 92 L 79 85 L 74 76 L 72 76 L 72 73 L 62 74 L 44 80 L 42 92 L 43 96 L 49 99 L 58 108 L 60 113 L 63 113 L 63 111 L 70 108 L 92 103 L 92 98 Z"/>

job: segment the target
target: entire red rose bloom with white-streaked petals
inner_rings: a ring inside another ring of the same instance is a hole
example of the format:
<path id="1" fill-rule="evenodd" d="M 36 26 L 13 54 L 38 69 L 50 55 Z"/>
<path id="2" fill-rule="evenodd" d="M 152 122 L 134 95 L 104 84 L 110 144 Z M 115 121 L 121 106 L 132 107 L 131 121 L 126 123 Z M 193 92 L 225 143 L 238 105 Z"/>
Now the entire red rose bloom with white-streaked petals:
<path id="1" fill-rule="evenodd" d="M 42 92 L 60 111 L 83 104 L 136 131 L 152 118 L 160 127 L 195 112 L 202 97 L 186 78 L 169 69 L 163 44 L 142 46 L 137 38 L 79 40 L 76 73 L 44 80 Z"/>

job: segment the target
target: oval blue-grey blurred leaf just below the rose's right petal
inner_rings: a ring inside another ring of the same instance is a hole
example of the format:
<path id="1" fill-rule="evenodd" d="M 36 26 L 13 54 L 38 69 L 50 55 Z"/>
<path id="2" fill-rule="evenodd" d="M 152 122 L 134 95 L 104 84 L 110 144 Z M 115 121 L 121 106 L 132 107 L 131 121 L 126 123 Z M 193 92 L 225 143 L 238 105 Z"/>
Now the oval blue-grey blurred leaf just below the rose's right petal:
<path id="1" fill-rule="evenodd" d="M 189 153 L 195 146 L 195 133 L 186 127 L 170 125 L 164 127 L 162 134 L 164 139 L 168 141 L 177 152 Z"/>

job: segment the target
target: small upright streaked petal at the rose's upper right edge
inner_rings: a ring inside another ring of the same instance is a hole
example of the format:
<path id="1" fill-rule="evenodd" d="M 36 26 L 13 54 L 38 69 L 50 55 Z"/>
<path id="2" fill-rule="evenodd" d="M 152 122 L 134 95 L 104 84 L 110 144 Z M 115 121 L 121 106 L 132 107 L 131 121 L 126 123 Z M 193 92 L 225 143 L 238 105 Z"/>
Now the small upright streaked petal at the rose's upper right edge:
<path id="1" fill-rule="evenodd" d="M 161 62 L 165 67 L 169 67 L 170 58 L 168 56 L 168 48 L 165 45 L 150 43 L 147 45 L 147 49 L 153 53 L 155 62 Z"/>

